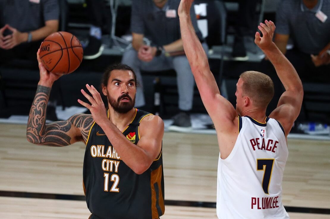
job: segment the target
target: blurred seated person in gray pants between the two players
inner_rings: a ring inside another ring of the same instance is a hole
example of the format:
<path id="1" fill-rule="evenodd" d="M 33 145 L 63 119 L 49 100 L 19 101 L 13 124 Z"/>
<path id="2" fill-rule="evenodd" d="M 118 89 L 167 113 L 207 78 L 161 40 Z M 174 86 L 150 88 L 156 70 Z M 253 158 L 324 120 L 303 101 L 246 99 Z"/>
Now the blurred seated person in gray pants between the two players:
<path id="1" fill-rule="evenodd" d="M 178 7 L 180 0 L 135 0 L 132 2 L 132 48 L 125 51 L 122 63 L 133 68 L 140 87 L 136 93 L 136 107 L 145 105 L 140 69 L 162 71 L 174 69 L 177 73 L 180 112 L 174 116 L 172 131 L 191 129 L 190 111 L 193 103 L 194 78 L 183 51 Z M 193 27 L 205 50 L 207 44 L 197 27 L 194 7 L 191 10 Z M 148 37 L 151 45 L 145 45 Z"/>

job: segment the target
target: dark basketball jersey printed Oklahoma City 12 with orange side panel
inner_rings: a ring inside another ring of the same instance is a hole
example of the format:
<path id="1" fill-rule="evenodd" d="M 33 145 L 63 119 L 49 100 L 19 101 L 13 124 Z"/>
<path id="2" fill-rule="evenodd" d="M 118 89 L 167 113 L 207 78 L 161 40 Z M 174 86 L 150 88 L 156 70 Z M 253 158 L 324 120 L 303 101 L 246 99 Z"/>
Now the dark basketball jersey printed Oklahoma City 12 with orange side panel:
<path id="1" fill-rule="evenodd" d="M 149 115 L 136 109 L 123 135 L 137 144 L 140 122 Z M 101 127 L 94 122 L 86 142 L 83 186 L 87 207 L 99 218 L 158 218 L 165 211 L 162 152 L 138 175 L 120 159 Z"/>

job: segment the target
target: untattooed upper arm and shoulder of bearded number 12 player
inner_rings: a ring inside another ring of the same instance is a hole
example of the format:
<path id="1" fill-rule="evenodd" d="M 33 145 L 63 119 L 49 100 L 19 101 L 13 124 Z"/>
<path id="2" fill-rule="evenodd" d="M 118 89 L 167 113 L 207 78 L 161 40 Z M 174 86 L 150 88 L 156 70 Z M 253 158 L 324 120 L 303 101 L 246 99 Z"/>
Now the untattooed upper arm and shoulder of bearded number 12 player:
<path id="1" fill-rule="evenodd" d="M 139 137 L 137 144 L 149 157 L 146 163 L 146 169 L 149 168 L 155 158 L 161 152 L 162 139 L 164 136 L 164 122 L 156 115 L 146 116 L 140 123 Z"/>

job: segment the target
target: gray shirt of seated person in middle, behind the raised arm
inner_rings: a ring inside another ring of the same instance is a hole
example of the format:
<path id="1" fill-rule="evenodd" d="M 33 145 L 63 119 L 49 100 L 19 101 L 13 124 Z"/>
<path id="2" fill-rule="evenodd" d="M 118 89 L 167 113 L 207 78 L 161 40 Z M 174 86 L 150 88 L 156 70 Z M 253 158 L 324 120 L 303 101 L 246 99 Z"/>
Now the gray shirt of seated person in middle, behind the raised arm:
<path id="1" fill-rule="evenodd" d="M 131 31 L 144 34 L 153 44 L 163 46 L 181 39 L 180 22 L 178 16 L 180 0 L 168 0 L 166 5 L 159 9 L 152 0 L 134 0 L 132 3 Z M 172 11 L 171 11 L 172 10 Z M 174 10 L 174 11 L 173 11 Z M 175 13 L 175 17 L 166 16 L 166 11 Z M 196 34 L 203 40 L 197 27 L 194 7 L 191 7 L 190 16 Z"/>

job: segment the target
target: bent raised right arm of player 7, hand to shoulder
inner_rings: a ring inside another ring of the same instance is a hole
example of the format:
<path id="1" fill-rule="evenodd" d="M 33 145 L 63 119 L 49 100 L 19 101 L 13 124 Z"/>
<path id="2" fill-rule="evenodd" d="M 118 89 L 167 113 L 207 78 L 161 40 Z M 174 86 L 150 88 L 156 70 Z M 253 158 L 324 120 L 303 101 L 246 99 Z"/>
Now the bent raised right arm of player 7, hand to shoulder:
<path id="1" fill-rule="evenodd" d="M 281 122 L 287 135 L 297 119 L 303 101 L 303 85 L 293 65 L 288 61 L 279 48 L 272 41 L 275 24 L 265 21 L 258 26 L 263 37 L 256 32 L 254 42 L 262 49 L 275 67 L 276 73 L 284 85 L 285 92 L 282 94 L 277 108 L 269 117 Z"/>

